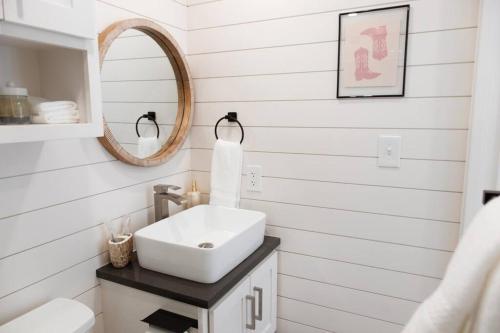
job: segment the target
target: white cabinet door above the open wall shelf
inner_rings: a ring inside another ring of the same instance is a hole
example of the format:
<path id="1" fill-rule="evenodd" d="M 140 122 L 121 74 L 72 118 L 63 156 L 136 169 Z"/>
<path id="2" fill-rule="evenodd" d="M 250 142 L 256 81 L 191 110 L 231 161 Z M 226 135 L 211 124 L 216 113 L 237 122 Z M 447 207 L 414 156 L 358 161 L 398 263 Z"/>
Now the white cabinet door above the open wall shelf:
<path id="1" fill-rule="evenodd" d="M 5 21 L 93 39 L 95 0 L 3 0 Z"/>

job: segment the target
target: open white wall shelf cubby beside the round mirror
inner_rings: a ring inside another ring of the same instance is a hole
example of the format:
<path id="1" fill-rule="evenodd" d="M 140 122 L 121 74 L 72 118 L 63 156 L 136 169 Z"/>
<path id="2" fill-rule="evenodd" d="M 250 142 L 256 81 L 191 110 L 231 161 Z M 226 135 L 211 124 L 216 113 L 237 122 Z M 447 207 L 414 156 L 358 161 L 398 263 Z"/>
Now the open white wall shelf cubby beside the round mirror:
<path id="1" fill-rule="evenodd" d="M 0 125 L 0 144 L 103 135 L 97 39 L 0 20 L 0 85 L 78 104 L 80 123 Z"/>

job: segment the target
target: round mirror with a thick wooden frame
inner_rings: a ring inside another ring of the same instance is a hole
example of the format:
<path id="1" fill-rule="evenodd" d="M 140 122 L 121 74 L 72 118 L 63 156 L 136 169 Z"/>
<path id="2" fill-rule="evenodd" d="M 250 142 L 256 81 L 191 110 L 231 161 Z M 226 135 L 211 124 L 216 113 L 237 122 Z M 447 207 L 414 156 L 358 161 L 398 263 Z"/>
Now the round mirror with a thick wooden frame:
<path id="1" fill-rule="evenodd" d="M 121 161 L 166 162 L 187 137 L 192 82 L 182 52 L 155 23 L 117 22 L 99 35 L 104 137 Z"/>

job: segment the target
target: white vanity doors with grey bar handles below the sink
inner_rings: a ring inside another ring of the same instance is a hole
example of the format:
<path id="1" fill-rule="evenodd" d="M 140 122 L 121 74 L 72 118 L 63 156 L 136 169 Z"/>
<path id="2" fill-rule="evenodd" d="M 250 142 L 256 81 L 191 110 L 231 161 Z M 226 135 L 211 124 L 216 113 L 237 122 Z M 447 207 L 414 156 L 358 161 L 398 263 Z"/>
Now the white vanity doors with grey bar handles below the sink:
<path id="1" fill-rule="evenodd" d="M 275 253 L 210 309 L 210 332 L 275 332 L 276 269 Z"/>

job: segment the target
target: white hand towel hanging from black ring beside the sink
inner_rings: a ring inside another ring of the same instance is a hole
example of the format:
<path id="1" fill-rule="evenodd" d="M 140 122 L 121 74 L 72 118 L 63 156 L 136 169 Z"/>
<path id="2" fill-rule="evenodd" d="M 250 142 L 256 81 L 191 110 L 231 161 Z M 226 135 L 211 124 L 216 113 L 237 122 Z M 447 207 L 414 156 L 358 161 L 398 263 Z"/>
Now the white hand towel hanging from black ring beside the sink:
<path id="1" fill-rule="evenodd" d="M 238 208 L 240 206 L 243 150 L 237 142 L 217 140 L 212 155 L 210 204 Z"/>

